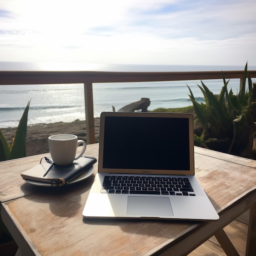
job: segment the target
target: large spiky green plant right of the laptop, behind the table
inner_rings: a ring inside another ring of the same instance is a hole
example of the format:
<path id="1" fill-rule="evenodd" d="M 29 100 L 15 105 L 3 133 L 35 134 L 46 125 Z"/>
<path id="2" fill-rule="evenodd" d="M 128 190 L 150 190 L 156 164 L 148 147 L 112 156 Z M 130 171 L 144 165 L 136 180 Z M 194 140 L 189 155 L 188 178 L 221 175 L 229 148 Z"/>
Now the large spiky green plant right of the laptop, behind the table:
<path id="1" fill-rule="evenodd" d="M 248 76 L 248 90 L 246 90 L 246 78 Z M 204 128 L 204 132 L 211 137 L 218 139 L 228 138 L 231 141 L 228 152 L 230 153 L 235 140 L 241 135 L 245 124 L 256 130 L 252 119 L 252 112 L 256 109 L 253 99 L 252 79 L 247 72 L 247 63 L 243 74 L 243 84 L 240 91 L 235 95 L 232 89 L 228 92 L 225 76 L 222 72 L 224 85 L 218 97 L 214 95 L 207 86 L 201 81 L 202 86 L 198 85 L 202 91 L 205 103 L 198 103 L 193 96 L 191 89 L 190 99 L 193 103 L 195 114 Z M 201 138 L 202 140 L 202 138 Z M 208 141 L 209 142 L 209 141 Z"/>

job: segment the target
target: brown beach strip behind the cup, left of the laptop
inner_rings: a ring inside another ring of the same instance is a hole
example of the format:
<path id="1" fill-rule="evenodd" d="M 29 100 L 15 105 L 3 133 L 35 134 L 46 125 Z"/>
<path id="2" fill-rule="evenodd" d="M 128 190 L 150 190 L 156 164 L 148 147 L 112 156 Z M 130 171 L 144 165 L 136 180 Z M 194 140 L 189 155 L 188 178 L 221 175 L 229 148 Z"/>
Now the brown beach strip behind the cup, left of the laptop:
<path id="1" fill-rule="evenodd" d="M 99 118 L 94 119 L 95 139 L 99 142 Z M 11 146 L 17 128 L 2 128 L 2 133 Z M 48 137 L 55 134 L 75 134 L 78 139 L 86 141 L 85 121 L 75 120 L 72 123 L 35 124 L 27 126 L 27 156 L 48 153 Z"/>

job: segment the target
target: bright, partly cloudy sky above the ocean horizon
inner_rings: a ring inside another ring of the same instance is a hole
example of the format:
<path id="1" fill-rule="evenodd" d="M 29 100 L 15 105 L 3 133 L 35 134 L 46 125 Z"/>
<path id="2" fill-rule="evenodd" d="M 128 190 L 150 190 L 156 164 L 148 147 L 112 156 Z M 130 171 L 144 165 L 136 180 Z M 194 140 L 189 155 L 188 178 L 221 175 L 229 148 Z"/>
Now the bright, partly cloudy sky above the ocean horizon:
<path id="1" fill-rule="evenodd" d="M 256 65 L 255 0 L 0 0 L 0 61 Z"/>

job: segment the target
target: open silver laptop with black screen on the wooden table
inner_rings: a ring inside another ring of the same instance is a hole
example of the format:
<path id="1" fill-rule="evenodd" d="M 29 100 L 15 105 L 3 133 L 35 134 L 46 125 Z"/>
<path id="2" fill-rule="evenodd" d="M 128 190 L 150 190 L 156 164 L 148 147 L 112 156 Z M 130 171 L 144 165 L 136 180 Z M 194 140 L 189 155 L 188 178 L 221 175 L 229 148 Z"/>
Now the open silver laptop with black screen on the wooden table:
<path id="1" fill-rule="evenodd" d="M 85 218 L 218 220 L 195 177 L 193 115 L 102 112 Z"/>

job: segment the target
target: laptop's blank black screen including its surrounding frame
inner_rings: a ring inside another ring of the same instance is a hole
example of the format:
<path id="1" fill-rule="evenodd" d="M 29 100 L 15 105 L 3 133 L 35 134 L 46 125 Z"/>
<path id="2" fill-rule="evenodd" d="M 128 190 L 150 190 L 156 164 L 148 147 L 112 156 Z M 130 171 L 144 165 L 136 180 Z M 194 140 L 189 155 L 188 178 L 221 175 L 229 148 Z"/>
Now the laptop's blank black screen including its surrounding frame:
<path id="1" fill-rule="evenodd" d="M 190 174 L 191 129 L 191 114 L 104 112 L 99 165 L 112 173 Z"/>

